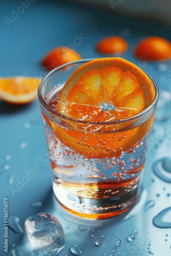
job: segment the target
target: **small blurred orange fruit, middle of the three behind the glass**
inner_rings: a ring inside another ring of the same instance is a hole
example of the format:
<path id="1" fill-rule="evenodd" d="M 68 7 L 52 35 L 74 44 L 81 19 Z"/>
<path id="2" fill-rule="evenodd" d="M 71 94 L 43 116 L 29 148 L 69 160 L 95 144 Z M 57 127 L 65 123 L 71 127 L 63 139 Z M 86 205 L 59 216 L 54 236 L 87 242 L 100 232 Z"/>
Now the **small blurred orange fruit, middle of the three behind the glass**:
<path id="1" fill-rule="evenodd" d="M 120 36 L 109 36 L 103 38 L 97 44 L 97 51 L 102 54 L 122 54 L 127 51 L 128 45 L 124 38 Z"/>

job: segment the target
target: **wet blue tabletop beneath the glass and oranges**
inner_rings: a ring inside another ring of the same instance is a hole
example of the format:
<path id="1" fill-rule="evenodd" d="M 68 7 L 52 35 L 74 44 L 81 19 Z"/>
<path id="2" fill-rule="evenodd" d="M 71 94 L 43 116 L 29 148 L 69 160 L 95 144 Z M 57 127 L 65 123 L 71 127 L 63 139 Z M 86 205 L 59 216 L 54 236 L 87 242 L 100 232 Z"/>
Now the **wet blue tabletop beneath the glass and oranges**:
<path id="1" fill-rule="evenodd" d="M 23 106 L 0 101 L 0 255 L 26 255 L 20 242 L 25 237 L 22 230 L 26 218 L 38 212 L 49 212 L 59 220 L 65 233 L 66 246 L 59 253 L 61 256 L 73 255 L 70 252 L 72 245 L 81 246 L 83 256 L 170 256 L 171 61 L 138 60 L 133 54 L 140 39 L 151 35 L 167 37 L 165 26 L 131 22 L 125 17 L 65 3 L 31 0 L 27 3 L 30 5 L 26 8 L 18 1 L 1 1 L 2 77 L 44 76 L 46 71 L 40 61 L 57 46 L 69 46 L 82 58 L 103 57 L 95 50 L 97 42 L 105 36 L 119 35 L 129 43 L 129 50 L 122 57 L 134 62 L 156 80 L 160 99 L 140 201 L 123 216 L 99 221 L 70 216 L 56 202 L 38 100 Z M 80 44 L 75 44 L 74 39 L 78 37 Z M 36 168 L 39 172 L 32 172 L 34 175 L 29 176 L 29 171 Z M 8 253 L 4 251 L 4 198 L 8 199 L 5 201 L 8 201 L 10 223 Z M 157 216 L 164 209 L 163 215 Z M 155 222 L 156 216 L 158 221 Z M 86 225 L 86 229 L 81 231 L 80 225 Z M 127 239 L 130 235 L 135 237 L 132 242 Z M 99 246 L 95 245 L 98 240 L 101 241 Z M 19 246 L 20 253 L 17 254 Z"/>

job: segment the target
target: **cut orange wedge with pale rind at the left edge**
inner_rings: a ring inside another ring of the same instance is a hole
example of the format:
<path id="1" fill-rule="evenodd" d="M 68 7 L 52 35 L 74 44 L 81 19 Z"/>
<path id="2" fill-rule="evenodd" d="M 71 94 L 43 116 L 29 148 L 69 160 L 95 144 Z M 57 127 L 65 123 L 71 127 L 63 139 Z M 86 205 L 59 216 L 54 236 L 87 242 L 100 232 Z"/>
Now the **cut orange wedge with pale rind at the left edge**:
<path id="1" fill-rule="evenodd" d="M 37 98 L 40 79 L 37 77 L 0 78 L 0 98 L 14 104 L 25 104 Z"/>

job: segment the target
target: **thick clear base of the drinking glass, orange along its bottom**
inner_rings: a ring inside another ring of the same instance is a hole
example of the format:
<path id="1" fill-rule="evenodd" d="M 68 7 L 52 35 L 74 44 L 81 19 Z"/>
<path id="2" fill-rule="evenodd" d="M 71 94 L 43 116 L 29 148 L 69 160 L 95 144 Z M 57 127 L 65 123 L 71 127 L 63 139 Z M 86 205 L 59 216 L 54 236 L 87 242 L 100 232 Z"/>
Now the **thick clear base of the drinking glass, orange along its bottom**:
<path id="1" fill-rule="evenodd" d="M 68 193 L 53 181 L 54 194 L 70 214 L 84 219 L 106 219 L 116 217 L 129 210 L 139 197 L 139 186 L 124 195 L 108 199 L 90 199 Z"/>

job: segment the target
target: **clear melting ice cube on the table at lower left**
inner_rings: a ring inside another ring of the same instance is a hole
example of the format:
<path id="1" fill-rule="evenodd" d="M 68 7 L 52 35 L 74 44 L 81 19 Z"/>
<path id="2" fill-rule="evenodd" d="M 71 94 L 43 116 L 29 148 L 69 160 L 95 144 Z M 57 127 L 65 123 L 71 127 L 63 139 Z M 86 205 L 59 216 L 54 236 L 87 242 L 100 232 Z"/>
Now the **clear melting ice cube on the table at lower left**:
<path id="1" fill-rule="evenodd" d="M 65 247 L 63 229 L 51 214 L 39 213 L 28 217 L 25 229 L 34 255 L 57 255 Z"/>

